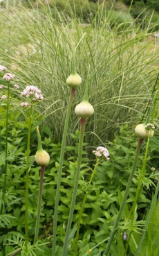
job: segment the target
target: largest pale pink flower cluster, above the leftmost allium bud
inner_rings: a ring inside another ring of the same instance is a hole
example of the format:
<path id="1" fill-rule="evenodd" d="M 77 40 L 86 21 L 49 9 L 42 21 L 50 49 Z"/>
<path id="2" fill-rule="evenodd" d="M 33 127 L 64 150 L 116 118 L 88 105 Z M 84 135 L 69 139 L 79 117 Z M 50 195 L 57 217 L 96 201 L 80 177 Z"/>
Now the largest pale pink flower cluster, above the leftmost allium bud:
<path id="1" fill-rule="evenodd" d="M 43 99 L 43 96 L 41 94 L 41 90 L 38 89 L 34 85 L 28 85 L 26 86 L 26 89 L 24 89 L 23 92 L 21 92 L 21 96 L 26 96 L 26 97 L 32 97 L 32 101 L 39 101 Z"/>

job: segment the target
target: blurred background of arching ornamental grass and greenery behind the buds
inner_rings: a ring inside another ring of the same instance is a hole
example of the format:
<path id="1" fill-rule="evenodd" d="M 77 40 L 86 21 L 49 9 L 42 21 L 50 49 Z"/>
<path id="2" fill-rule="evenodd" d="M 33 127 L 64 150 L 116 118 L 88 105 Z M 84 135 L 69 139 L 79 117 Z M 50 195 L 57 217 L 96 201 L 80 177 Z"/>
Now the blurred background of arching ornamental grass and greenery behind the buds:
<path id="1" fill-rule="evenodd" d="M 22 6 L 21 6 L 22 4 Z M 122 123 L 144 118 L 158 75 L 158 12 L 154 1 L 1 1 L 1 63 L 18 74 L 21 87 L 37 85 L 47 99 L 39 108 L 61 139 L 68 99 L 66 78 L 75 47 L 82 86 L 88 64 L 89 101 L 95 115 L 87 130 L 91 141 L 113 139 Z M 150 9 L 149 9 L 150 8 Z M 139 9 L 138 9 L 139 10 Z M 70 132 L 77 129 L 72 114 Z M 93 139 L 93 140 L 92 140 Z"/>

